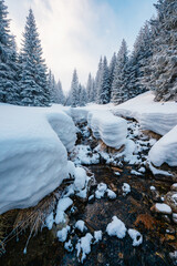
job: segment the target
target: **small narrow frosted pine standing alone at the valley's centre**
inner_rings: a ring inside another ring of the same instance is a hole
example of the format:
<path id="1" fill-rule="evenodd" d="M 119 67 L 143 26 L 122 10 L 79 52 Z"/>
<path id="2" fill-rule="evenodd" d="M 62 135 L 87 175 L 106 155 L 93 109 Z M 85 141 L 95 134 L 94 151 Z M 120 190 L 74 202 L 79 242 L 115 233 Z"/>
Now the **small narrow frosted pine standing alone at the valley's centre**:
<path id="1" fill-rule="evenodd" d="M 73 108 L 79 106 L 80 95 L 79 95 L 79 78 L 76 70 L 73 72 L 72 83 L 71 83 L 71 105 Z"/>

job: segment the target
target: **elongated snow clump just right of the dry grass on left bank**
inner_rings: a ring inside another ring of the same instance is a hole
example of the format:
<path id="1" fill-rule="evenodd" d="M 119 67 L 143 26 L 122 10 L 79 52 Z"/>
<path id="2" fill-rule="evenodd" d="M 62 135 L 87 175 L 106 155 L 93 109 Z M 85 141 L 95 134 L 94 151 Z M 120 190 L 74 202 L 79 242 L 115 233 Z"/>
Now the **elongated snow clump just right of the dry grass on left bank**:
<path id="1" fill-rule="evenodd" d="M 60 224 L 65 222 L 64 212 L 73 204 L 73 201 L 70 197 L 63 197 L 59 201 L 56 207 L 55 223 Z"/>

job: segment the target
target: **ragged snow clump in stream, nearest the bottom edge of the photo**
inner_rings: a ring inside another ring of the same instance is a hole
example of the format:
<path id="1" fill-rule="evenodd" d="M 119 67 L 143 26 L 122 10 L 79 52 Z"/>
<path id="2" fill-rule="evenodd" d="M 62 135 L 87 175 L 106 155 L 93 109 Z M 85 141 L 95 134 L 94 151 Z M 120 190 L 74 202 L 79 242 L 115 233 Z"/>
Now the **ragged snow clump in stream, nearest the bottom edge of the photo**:
<path id="1" fill-rule="evenodd" d="M 87 233 L 84 237 L 82 237 L 75 248 L 77 250 L 76 256 L 80 258 L 81 256 L 81 263 L 84 262 L 84 259 L 86 258 L 86 255 L 91 253 L 91 243 L 92 243 L 93 236 Z"/>

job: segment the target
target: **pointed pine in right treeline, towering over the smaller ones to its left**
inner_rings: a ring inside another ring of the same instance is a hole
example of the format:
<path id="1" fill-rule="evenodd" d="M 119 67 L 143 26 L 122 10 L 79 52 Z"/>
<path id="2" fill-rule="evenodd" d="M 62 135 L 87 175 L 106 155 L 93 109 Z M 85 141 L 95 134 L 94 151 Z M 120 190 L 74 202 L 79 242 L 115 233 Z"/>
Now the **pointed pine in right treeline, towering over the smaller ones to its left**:
<path id="1" fill-rule="evenodd" d="M 115 104 L 119 104 L 128 99 L 127 62 L 128 50 L 125 40 L 123 40 L 117 54 L 112 89 L 112 102 Z"/>

